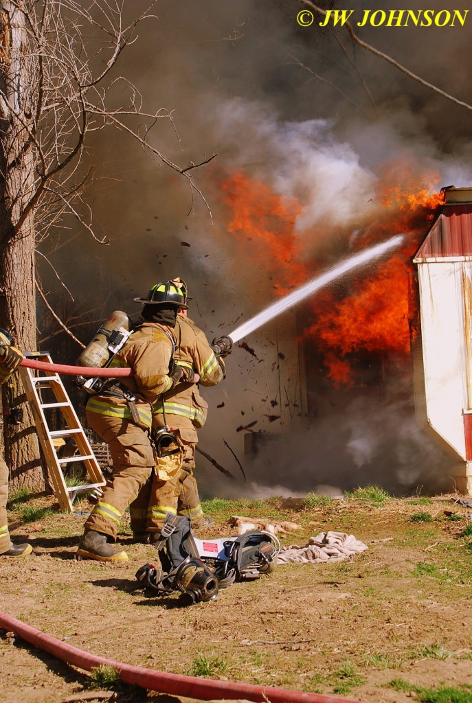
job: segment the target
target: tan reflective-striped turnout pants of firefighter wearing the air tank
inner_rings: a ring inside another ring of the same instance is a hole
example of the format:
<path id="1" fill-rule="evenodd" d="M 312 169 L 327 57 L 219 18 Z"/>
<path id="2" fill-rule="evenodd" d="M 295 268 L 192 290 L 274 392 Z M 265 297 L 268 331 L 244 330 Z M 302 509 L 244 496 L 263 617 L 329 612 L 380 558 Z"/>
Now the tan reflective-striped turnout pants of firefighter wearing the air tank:
<path id="1" fill-rule="evenodd" d="M 108 444 L 113 475 L 85 522 L 85 529 L 103 532 L 115 539 L 123 513 L 151 476 L 154 450 L 146 430 L 132 420 L 87 410 L 87 422 Z"/>

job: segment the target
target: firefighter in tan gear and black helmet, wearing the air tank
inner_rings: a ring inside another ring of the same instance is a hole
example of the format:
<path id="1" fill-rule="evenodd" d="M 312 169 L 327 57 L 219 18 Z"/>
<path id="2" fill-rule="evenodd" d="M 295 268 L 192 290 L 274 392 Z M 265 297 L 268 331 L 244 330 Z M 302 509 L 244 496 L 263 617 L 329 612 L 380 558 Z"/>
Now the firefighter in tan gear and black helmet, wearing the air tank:
<path id="1" fill-rule="evenodd" d="M 132 368 L 134 375 L 120 382 L 110 379 L 86 406 L 87 422 L 108 443 L 113 475 L 85 522 L 77 555 L 106 562 L 127 560 L 127 553 L 109 541 L 115 541 L 123 513 L 157 463 L 149 437 L 151 406 L 177 385 L 183 373 L 173 363 L 173 352 L 177 311 L 186 307 L 184 296 L 177 288 L 158 283 L 146 298 L 134 300 L 143 304 L 143 321 L 110 363 L 112 368 Z M 181 452 L 169 461 L 179 469 Z"/>

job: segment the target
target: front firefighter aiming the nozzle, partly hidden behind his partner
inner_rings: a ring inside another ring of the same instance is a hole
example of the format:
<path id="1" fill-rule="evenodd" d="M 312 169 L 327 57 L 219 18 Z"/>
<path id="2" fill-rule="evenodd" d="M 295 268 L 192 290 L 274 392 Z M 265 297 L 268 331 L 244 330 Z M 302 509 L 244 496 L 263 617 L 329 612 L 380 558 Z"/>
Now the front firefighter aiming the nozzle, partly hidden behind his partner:
<path id="1" fill-rule="evenodd" d="M 182 288 L 185 286 L 178 278 L 174 282 Z M 205 387 L 219 383 L 224 377 L 224 362 L 215 356 L 202 330 L 187 318 L 184 307 L 177 315 L 174 333 L 177 340 L 175 363 L 186 369 L 190 378 L 196 373 L 199 384 Z M 165 475 L 165 470 L 158 468 L 153 481 L 143 486 L 130 506 L 131 528 L 136 541 L 146 541 L 148 534 L 153 541 L 153 535 L 163 527 L 167 512 L 186 515 L 193 529 L 212 524 L 203 515 L 193 476 L 197 430 L 205 424 L 207 413 L 208 403 L 200 395 L 198 386 L 191 382 L 179 383 L 153 404 L 154 430 L 170 427 L 183 446 L 184 460 L 179 475 L 171 479 Z"/>

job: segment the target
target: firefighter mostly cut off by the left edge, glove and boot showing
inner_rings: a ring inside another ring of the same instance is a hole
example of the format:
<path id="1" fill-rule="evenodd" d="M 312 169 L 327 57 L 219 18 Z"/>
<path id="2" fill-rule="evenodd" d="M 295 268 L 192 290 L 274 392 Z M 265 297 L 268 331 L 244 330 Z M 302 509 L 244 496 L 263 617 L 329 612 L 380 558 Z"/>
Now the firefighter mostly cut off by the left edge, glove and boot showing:
<path id="1" fill-rule="evenodd" d="M 23 354 L 11 346 L 11 336 L 0 328 L 0 384 L 11 376 L 23 361 Z M 32 546 L 27 543 L 13 544 L 8 532 L 6 503 L 8 501 L 8 466 L 0 456 L 0 556 L 25 557 L 32 553 Z"/>

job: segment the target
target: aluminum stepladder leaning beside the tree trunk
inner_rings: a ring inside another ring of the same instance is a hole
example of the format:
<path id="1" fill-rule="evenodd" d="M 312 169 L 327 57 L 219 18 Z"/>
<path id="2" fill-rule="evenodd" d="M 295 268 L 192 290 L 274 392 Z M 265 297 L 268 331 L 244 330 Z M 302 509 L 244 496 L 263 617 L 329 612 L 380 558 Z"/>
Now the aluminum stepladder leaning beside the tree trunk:
<path id="1" fill-rule="evenodd" d="M 24 352 L 27 358 L 36 361 L 52 363 L 51 356 L 41 352 Z M 106 481 L 94 451 L 91 449 L 84 428 L 80 424 L 77 413 L 73 408 L 69 396 L 55 371 L 43 371 L 26 366 L 19 366 L 20 378 L 23 382 L 26 397 L 30 402 L 34 424 L 39 438 L 39 444 L 46 460 L 46 465 L 51 476 L 54 493 L 58 499 L 60 510 L 74 512 L 73 501 L 80 491 L 99 489 L 105 486 Z M 48 409 L 58 408 L 62 419 L 65 421 L 64 430 L 50 430 L 46 420 Z M 54 440 L 70 439 L 75 443 L 73 456 L 59 458 L 54 446 Z M 65 482 L 63 470 L 71 463 L 82 462 L 87 470 L 91 483 L 83 486 L 68 486 Z"/>

